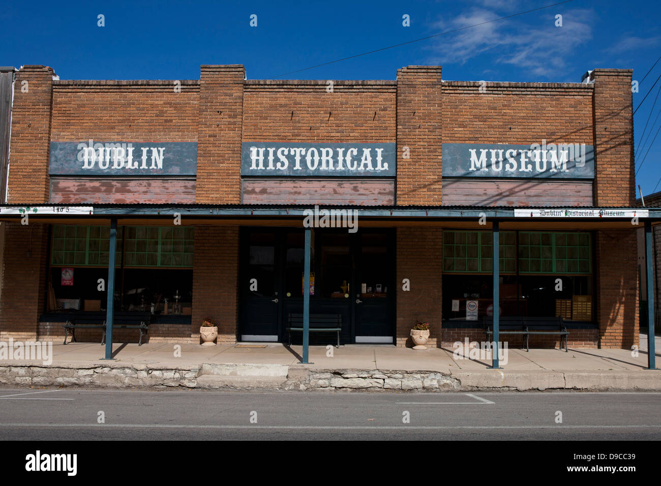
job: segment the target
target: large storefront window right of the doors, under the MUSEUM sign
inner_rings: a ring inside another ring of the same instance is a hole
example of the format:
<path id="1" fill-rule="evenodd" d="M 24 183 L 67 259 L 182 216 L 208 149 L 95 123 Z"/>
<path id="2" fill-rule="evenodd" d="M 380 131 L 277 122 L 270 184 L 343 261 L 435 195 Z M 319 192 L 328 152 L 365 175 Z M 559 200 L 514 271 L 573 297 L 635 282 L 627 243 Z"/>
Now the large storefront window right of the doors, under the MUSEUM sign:
<path id="1" fill-rule="evenodd" d="M 467 319 L 467 301 L 471 319 L 493 315 L 492 233 L 444 231 L 443 243 L 444 319 Z M 587 232 L 501 231 L 501 315 L 592 321 L 591 249 Z"/>

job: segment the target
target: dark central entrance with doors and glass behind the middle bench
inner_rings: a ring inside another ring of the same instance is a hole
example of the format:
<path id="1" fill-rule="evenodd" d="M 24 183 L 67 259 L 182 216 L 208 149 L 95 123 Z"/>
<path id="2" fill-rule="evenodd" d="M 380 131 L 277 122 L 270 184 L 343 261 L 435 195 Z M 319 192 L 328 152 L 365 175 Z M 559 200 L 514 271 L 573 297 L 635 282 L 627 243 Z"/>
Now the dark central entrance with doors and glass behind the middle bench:
<path id="1" fill-rule="evenodd" d="M 394 237 L 390 229 L 312 229 L 310 314 L 341 315 L 341 343 L 395 343 Z M 303 313 L 303 243 L 299 228 L 242 229 L 240 341 L 288 342 L 290 314 Z M 310 335 L 311 344 L 335 341 Z"/>

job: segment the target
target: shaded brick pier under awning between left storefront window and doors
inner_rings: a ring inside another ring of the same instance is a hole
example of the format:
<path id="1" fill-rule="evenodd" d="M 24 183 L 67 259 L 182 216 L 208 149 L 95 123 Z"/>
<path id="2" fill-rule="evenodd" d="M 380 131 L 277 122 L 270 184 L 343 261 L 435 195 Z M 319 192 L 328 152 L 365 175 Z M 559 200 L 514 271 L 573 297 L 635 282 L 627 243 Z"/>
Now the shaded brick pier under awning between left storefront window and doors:
<path id="1" fill-rule="evenodd" d="M 191 332 L 200 335 L 206 317 L 218 327 L 217 343 L 236 343 L 239 280 L 239 227 L 197 226 L 193 256 Z"/>

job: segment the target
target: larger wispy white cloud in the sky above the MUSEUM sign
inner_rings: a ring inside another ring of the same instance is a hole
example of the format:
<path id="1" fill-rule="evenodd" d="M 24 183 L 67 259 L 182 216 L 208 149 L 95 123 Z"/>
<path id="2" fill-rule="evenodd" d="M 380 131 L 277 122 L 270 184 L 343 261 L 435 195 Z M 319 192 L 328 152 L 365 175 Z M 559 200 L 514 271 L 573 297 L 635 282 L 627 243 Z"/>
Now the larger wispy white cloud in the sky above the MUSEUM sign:
<path id="1" fill-rule="evenodd" d="M 488 3 L 500 3 L 499 0 Z M 543 17 L 515 17 L 467 28 L 456 34 L 442 36 L 432 58 L 436 64 L 460 63 L 489 52 L 494 63 L 525 68 L 534 75 L 557 79 L 564 72 L 568 60 L 580 46 L 592 39 L 590 19 L 592 9 L 574 9 L 558 12 L 563 15 L 563 26 L 555 26 L 553 11 Z M 493 9 L 473 7 L 451 20 L 440 20 L 434 30 L 444 31 L 481 24 L 502 17 Z"/>

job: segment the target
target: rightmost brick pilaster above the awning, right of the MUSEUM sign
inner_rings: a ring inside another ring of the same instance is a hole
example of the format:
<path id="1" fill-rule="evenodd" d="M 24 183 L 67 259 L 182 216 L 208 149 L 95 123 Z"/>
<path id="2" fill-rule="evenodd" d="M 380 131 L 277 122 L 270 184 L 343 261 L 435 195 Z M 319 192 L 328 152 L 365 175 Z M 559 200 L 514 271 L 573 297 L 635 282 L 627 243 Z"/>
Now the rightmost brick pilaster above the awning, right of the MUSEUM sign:
<path id="1" fill-rule="evenodd" d="M 596 206 L 635 206 L 631 69 L 594 69 Z"/>

